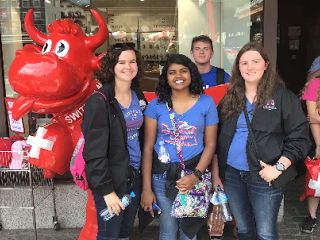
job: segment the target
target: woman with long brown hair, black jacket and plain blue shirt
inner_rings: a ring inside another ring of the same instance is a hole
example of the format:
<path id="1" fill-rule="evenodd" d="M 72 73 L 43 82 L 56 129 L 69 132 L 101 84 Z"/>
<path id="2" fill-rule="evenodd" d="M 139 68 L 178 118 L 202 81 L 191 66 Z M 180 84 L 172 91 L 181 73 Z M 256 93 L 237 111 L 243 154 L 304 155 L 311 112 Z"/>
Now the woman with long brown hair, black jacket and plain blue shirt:
<path id="1" fill-rule="evenodd" d="M 276 240 L 282 187 L 308 153 L 309 129 L 300 100 L 283 86 L 259 43 L 239 51 L 218 112 L 214 186 L 229 198 L 240 240 Z"/>

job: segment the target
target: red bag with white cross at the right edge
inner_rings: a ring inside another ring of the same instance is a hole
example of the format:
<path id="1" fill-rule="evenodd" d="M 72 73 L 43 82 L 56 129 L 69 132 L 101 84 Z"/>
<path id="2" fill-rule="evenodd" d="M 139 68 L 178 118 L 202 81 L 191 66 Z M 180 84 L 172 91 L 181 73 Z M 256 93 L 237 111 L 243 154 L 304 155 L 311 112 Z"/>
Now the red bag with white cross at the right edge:
<path id="1" fill-rule="evenodd" d="M 304 193 L 300 196 L 300 201 L 304 201 L 308 197 L 320 197 L 320 159 L 307 157 L 304 163 L 307 171 L 304 180 Z"/>

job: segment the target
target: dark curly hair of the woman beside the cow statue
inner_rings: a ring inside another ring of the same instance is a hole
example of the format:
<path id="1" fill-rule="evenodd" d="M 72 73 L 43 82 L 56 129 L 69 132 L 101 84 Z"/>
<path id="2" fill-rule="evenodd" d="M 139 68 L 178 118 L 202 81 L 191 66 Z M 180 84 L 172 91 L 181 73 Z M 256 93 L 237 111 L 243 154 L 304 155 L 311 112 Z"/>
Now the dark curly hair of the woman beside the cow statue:
<path id="1" fill-rule="evenodd" d="M 134 51 L 136 54 L 138 73 L 132 80 L 131 88 L 139 88 L 139 80 L 143 74 L 142 58 L 136 49 L 127 44 L 115 45 L 108 50 L 108 53 L 101 60 L 101 69 L 96 73 L 96 78 L 102 84 L 114 82 L 114 67 L 123 51 Z"/>

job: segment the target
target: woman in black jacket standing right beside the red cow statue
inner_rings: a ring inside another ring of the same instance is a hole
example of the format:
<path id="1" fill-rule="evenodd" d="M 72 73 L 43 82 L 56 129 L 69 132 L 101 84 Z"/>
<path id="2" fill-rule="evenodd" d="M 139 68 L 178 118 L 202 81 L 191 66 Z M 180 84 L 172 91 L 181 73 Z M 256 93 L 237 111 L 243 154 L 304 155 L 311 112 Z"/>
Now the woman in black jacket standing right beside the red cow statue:
<path id="1" fill-rule="evenodd" d="M 129 239 L 141 195 L 142 112 L 146 100 L 138 87 L 142 74 L 139 53 L 127 45 L 104 57 L 98 79 L 104 84 L 85 106 L 82 132 L 86 177 L 97 209 L 97 239 Z M 136 197 L 124 208 L 121 197 Z M 103 221 L 108 208 L 116 216 Z"/>

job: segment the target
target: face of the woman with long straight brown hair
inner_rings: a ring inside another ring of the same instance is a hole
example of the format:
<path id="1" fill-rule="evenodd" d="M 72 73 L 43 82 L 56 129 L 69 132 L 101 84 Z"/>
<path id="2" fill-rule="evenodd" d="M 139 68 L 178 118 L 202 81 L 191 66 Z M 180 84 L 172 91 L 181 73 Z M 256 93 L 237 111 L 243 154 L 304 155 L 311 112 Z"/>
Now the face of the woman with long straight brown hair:
<path id="1" fill-rule="evenodd" d="M 245 52 L 239 59 L 239 71 L 246 83 L 258 84 L 267 67 L 268 63 L 254 50 Z"/>

